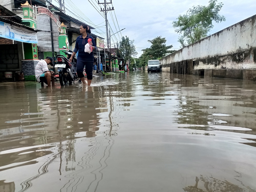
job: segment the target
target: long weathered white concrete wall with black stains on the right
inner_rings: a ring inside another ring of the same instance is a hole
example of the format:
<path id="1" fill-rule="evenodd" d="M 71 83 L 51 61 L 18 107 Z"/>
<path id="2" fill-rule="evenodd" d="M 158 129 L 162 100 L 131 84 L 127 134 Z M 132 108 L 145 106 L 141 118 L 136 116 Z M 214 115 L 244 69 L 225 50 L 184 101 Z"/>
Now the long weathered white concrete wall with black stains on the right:
<path id="1" fill-rule="evenodd" d="M 256 68 L 256 15 L 180 49 L 160 61 L 164 67 L 191 59 L 194 60 L 193 69 L 220 69 L 221 66 L 228 69 Z"/>

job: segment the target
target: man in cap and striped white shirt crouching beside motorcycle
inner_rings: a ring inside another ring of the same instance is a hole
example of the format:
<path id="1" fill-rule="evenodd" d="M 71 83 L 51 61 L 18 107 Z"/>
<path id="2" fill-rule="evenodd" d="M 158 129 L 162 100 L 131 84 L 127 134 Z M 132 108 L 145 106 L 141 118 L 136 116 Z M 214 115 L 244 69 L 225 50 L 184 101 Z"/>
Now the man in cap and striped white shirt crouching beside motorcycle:
<path id="1" fill-rule="evenodd" d="M 35 75 L 36 80 L 38 82 L 44 82 L 48 85 L 48 87 L 51 87 L 51 83 L 54 86 L 54 71 L 49 71 L 47 65 L 53 66 L 53 59 L 52 57 L 46 57 L 45 59 L 41 59 L 35 68 Z"/>

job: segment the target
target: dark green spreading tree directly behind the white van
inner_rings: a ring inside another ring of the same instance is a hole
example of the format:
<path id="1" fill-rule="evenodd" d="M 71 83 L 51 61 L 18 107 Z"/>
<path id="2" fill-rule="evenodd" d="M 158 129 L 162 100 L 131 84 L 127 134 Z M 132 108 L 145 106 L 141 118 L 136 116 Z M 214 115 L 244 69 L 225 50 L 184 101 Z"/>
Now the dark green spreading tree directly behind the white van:
<path id="1" fill-rule="evenodd" d="M 145 50 L 146 54 L 150 55 L 152 59 L 161 59 L 167 53 L 171 53 L 171 51 L 169 51 L 168 49 L 172 48 L 173 46 L 166 46 L 165 37 L 162 38 L 162 36 L 158 36 L 153 40 L 148 40 L 148 42 L 151 43 L 150 48 L 143 49 L 142 51 Z"/>

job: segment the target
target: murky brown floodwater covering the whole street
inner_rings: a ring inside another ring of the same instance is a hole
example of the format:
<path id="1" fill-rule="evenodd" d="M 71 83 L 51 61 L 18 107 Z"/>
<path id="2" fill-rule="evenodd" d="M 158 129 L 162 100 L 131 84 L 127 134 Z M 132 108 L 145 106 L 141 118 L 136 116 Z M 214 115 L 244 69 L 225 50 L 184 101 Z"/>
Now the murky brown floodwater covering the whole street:
<path id="1" fill-rule="evenodd" d="M 256 191 L 256 82 L 135 71 L 0 84 L 0 192 Z"/>

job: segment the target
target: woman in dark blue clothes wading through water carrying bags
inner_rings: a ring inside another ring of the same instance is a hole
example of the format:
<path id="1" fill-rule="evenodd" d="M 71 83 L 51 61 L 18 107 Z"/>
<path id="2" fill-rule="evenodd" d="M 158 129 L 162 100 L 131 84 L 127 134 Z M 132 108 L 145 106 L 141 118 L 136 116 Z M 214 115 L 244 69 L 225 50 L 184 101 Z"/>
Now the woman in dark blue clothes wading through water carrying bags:
<path id="1" fill-rule="evenodd" d="M 78 57 L 77 57 L 77 76 L 81 79 L 83 84 L 87 84 L 86 80 L 84 79 L 83 75 L 83 68 L 85 66 L 85 72 L 87 75 L 88 80 L 88 86 L 91 85 L 92 82 L 92 70 L 93 70 L 93 51 L 89 54 L 87 52 L 84 52 L 84 46 L 88 43 L 88 39 L 91 38 L 92 41 L 89 42 L 90 45 L 92 45 L 92 50 L 97 49 L 95 41 L 92 36 L 89 34 L 91 33 L 91 29 L 88 25 L 82 24 L 80 26 L 80 33 L 81 36 L 77 37 L 76 45 L 73 50 L 73 54 L 71 55 L 69 61 L 72 62 L 72 59 L 74 55 L 76 55 L 78 51 Z"/>

